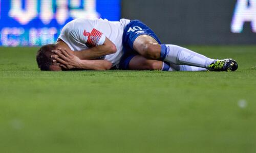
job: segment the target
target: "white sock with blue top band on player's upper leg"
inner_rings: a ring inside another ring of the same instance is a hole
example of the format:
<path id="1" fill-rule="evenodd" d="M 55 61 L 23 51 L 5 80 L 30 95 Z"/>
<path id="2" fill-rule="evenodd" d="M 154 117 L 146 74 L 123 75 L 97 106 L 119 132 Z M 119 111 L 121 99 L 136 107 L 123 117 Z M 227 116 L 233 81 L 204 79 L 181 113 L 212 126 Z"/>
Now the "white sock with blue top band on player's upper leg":
<path id="1" fill-rule="evenodd" d="M 190 65 L 203 68 L 207 68 L 208 65 L 215 61 L 214 59 L 207 58 L 206 56 L 177 45 L 161 45 L 161 58 L 164 61 L 177 65 Z"/>

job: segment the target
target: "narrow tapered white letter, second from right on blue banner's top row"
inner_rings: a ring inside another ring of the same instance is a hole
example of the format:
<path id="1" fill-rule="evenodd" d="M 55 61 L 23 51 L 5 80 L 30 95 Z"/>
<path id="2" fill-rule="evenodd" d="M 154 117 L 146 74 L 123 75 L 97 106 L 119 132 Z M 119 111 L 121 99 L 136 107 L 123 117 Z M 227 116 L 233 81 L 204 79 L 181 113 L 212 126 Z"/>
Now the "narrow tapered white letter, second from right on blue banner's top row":
<path id="1" fill-rule="evenodd" d="M 56 20 L 59 24 L 64 24 L 69 18 L 68 0 L 57 0 Z"/>

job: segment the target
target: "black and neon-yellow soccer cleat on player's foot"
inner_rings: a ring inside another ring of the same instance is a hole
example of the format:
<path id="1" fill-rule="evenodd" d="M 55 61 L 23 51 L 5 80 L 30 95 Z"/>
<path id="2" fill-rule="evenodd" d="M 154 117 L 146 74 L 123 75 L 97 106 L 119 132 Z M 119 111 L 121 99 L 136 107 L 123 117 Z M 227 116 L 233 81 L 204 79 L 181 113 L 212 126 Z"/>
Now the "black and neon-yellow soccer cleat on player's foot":
<path id="1" fill-rule="evenodd" d="M 235 71 L 238 69 L 238 63 L 232 59 L 217 60 L 207 68 L 209 71 Z"/>

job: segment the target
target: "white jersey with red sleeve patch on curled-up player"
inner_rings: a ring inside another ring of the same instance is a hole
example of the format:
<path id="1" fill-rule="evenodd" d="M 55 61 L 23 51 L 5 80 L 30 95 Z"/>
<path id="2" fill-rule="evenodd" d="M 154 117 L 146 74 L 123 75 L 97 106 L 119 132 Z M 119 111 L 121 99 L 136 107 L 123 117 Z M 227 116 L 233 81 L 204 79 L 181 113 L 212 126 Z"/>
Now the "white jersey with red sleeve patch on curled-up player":
<path id="1" fill-rule="evenodd" d="M 123 55 L 122 36 L 125 26 L 129 23 L 128 19 L 109 21 L 78 18 L 63 27 L 58 39 L 67 43 L 72 50 L 80 51 L 102 45 L 107 37 L 116 45 L 117 52 L 106 55 L 103 59 L 110 61 L 114 67 L 119 64 Z"/>

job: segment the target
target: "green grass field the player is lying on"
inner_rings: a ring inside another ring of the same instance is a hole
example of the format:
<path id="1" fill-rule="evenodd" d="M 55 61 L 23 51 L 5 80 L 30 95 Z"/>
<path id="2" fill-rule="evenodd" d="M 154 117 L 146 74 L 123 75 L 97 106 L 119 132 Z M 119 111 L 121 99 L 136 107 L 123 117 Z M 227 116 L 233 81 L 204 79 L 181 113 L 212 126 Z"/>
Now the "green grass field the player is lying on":
<path id="1" fill-rule="evenodd" d="M 256 152 L 256 46 L 187 46 L 236 72 L 42 72 L 0 48 L 0 152 Z"/>

